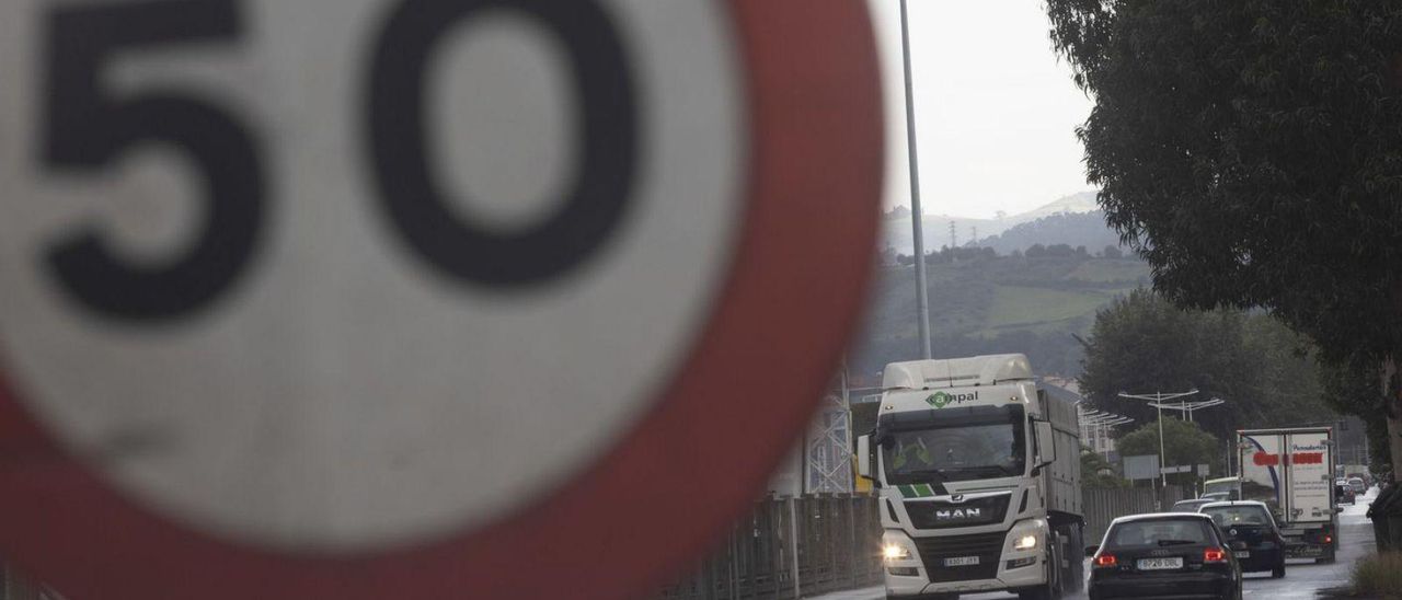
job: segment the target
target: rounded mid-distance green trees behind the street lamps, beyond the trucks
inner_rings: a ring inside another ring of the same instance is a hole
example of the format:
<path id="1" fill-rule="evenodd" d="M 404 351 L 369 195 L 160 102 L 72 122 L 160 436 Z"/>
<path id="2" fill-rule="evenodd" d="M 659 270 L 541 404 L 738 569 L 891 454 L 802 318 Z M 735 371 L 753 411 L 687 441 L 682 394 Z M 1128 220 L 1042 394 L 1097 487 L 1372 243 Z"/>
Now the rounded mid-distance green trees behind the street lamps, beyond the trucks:
<path id="1" fill-rule="evenodd" d="M 1224 440 L 1244 428 L 1328 422 L 1335 415 L 1322 401 L 1309 348 L 1269 315 L 1182 310 L 1140 289 L 1096 313 L 1081 393 L 1102 411 L 1144 423 L 1155 409 L 1119 393 L 1197 388 L 1186 400 L 1227 401 L 1195 414 Z"/>

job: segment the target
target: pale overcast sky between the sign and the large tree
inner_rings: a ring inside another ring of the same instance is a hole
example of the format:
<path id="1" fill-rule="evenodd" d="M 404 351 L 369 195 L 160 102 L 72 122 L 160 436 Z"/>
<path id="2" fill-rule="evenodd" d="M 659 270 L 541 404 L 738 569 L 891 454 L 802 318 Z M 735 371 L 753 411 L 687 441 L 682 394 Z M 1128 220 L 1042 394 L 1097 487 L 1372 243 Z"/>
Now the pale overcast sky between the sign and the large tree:
<path id="1" fill-rule="evenodd" d="M 910 205 L 900 1 L 869 0 L 887 111 L 886 206 Z M 1091 189 L 1075 126 L 1091 101 L 1040 0 L 908 0 L 925 214 L 991 217 Z"/>

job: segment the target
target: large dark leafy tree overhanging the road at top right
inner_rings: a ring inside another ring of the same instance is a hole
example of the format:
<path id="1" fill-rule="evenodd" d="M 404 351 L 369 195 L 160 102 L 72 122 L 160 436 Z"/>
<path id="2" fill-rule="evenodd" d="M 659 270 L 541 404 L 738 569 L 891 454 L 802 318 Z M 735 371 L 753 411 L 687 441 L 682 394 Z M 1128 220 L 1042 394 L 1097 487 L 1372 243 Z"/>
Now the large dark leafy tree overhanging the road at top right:
<path id="1" fill-rule="evenodd" d="M 1402 470 L 1402 3 L 1047 0 L 1095 98 L 1106 220 L 1179 306 L 1265 307 L 1392 381 Z M 1381 388 L 1381 386 L 1380 386 Z M 1402 475 L 1402 474 L 1399 474 Z"/>

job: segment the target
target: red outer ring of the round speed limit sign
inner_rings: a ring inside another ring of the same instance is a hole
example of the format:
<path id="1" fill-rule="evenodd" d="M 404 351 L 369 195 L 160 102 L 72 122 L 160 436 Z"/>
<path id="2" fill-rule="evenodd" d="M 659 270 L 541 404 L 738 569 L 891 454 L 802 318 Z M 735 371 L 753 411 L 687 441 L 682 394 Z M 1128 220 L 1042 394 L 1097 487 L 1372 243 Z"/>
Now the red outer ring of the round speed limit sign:
<path id="1" fill-rule="evenodd" d="M 0 377 L 4 558 L 73 599 L 625 597 L 680 575 L 749 509 L 831 376 L 865 300 L 880 196 L 865 1 L 728 3 L 754 132 L 740 245 L 687 367 L 597 465 L 516 516 L 423 547 L 273 552 L 116 493 Z"/>

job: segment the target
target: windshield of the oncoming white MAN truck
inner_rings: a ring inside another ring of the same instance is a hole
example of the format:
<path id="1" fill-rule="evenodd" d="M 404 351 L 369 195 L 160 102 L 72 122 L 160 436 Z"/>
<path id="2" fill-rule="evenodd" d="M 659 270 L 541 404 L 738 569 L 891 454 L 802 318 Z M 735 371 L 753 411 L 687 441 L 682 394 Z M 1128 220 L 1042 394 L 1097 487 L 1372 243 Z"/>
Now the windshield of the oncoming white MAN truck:
<path id="1" fill-rule="evenodd" d="M 1026 467 L 1021 405 L 969 407 L 901 415 L 882 433 L 892 485 L 1021 475 Z"/>

